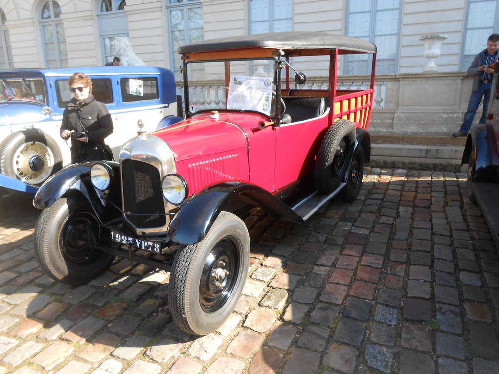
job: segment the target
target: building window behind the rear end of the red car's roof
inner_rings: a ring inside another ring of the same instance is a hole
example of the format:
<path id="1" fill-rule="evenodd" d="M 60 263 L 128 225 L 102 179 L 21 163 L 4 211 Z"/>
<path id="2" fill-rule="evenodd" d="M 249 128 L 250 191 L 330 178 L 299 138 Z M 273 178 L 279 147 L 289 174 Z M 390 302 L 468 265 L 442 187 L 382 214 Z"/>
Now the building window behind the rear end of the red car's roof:
<path id="1" fill-rule="evenodd" d="M 397 72 L 400 25 L 400 0 L 348 1 L 347 35 L 369 40 L 378 47 L 376 73 Z M 368 74 L 372 55 L 360 54 L 345 59 L 345 74 Z"/>

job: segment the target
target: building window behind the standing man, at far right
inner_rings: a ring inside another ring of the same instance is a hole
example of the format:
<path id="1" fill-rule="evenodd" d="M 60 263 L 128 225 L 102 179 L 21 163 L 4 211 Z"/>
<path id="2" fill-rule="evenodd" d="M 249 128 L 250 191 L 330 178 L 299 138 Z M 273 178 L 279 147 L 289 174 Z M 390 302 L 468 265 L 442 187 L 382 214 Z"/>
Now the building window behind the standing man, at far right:
<path id="1" fill-rule="evenodd" d="M 461 70 L 467 70 L 477 53 L 487 48 L 489 35 L 499 32 L 498 13 L 499 1 L 497 0 L 470 0 L 468 2 Z"/>

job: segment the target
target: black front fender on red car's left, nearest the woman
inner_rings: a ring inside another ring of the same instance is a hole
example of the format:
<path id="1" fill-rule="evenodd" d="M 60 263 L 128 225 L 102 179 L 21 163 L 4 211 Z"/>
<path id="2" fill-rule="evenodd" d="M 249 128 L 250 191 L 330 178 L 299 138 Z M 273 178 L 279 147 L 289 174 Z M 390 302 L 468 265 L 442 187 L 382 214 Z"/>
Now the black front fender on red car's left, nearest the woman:
<path id="1" fill-rule="evenodd" d="M 109 213 L 105 211 L 102 200 L 99 197 L 100 191 L 90 181 L 90 169 L 92 165 L 97 163 L 106 164 L 113 171 L 114 175 L 109 187 L 109 190 L 112 192 L 110 195 L 114 196 L 114 200 L 121 201 L 121 197 L 116 196 L 116 194 L 120 194 L 119 191 L 121 189 L 120 164 L 113 161 L 91 161 L 71 165 L 47 179 L 38 191 L 36 191 L 33 198 L 33 206 L 38 209 L 45 209 L 53 205 L 58 198 L 73 193 L 79 195 L 78 198 L 86 198 L 88 200 L 102 223 Z"/>

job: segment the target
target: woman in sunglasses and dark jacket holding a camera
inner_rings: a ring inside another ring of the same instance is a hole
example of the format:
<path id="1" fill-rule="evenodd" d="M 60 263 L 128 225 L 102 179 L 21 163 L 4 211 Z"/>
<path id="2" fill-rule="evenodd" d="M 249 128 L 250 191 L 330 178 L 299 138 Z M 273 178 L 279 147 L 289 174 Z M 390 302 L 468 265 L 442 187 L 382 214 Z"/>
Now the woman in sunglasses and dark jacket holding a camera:
<path id="1" fill-rule="evenodd" d="M 60 135 L 71 138 L 71 163 L 112 160 L 104 139 L 113 132 L 113 122 L 106 106 L 94 100 L 92 80 L 74 73 L 68 83 L 73 98 L 62 114 Z"/>

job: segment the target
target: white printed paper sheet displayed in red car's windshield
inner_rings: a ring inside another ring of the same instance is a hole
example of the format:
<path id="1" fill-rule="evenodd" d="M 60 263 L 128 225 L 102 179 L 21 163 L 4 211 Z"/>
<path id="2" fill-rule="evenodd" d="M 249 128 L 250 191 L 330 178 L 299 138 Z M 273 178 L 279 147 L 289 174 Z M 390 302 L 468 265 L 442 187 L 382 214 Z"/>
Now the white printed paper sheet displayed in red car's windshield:
<path id="1" fill-rule="evenodd" d="M 227 109 L 253 110 L 270 114 L 272 78 L 231 75 Z"/>

